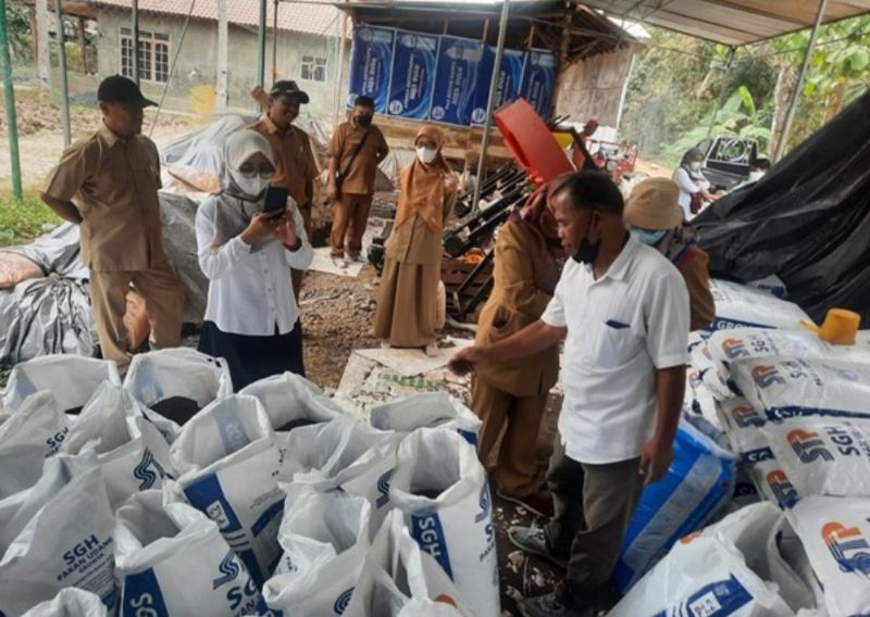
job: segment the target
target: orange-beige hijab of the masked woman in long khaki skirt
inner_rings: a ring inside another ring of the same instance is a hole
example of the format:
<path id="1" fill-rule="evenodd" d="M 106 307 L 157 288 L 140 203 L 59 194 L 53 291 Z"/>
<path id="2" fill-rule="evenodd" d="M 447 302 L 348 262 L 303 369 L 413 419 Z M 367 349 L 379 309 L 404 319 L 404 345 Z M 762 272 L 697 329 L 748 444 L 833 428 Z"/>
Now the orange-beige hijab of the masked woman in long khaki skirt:
<path id="1" fill-rule="evenodd" d="M 417 131 L 414 143 L 427 137 L 435 142 L 438 155 L 428 165 L 419 159 L 401 171 L 399 180 L 399 203 L 396 209 L 396 227 L 400 227 L 414 214 L 426 223 L 435 234 L 444 228 L 444 203 L 456 190 L 456 178 L 447 162 L 442 156 L 444 134 L 432 125 L 423 125 Z"/>

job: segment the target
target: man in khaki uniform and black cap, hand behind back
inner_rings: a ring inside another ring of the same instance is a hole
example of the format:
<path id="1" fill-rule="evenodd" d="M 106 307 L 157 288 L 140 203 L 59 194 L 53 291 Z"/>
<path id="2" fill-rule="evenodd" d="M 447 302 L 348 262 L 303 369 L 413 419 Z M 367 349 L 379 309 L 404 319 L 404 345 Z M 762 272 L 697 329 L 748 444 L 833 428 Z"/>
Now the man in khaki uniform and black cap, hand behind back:
<path id="1" fill-rule="evenodd" d="M 123 318 L 130 284 L 146 299 L 157 349 L 179 342 L 184 291 L 163 252 L 160 156 L 141 135 L 142 110 L 154 103 L 120 75 L 103 79 L 97 96 L 102 126 L 66 149 L 40 197 L 79 226 L 102 355 L 125 370 L 132 350 Z"/>

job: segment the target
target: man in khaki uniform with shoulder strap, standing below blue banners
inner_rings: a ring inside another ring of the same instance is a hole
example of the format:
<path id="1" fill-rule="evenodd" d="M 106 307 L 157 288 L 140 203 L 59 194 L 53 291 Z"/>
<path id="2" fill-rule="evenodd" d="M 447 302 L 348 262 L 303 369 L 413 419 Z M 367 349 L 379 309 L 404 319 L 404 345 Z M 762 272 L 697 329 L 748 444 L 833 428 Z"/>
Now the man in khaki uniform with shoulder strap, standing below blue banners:
<path id="1" fill-rule="evenodd" d="M 362 235 L 372 207 L 375 172 L 389 153 L 373 118 L 374 101 L 358 97 L 350 122 L 339 125 L 330 143 L 330 197 L 337 201 L 331 238 L 334 262 L 345 256 L 346 240 L 347 256 L 364 261 Z"/>

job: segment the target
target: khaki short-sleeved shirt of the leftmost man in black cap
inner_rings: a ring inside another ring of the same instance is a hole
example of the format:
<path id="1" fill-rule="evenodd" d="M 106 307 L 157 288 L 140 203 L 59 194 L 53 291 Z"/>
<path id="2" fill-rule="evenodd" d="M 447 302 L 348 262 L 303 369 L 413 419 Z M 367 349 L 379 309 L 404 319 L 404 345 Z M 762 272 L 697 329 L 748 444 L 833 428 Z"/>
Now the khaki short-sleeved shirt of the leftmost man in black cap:
<path id="1" fill-rule="evenodd" d="M 96 272 L 129 272 L 166 262 L 160 187 L 154 142 L 141 135 L 125 141 L 103 125 L 64 151 L 45 192 L 78 209 L 85 265 Z"/>

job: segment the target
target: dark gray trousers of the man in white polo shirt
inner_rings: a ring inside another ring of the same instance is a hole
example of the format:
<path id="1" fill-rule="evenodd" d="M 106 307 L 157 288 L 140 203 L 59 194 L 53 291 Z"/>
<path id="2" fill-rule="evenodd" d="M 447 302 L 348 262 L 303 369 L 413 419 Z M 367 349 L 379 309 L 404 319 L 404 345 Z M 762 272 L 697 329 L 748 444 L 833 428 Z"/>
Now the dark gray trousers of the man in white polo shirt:
<path id="1" fill-rule="evenodd" d="M 555 512 L 545 531 L 549 550 L 568 559 L 566 589 L 579 601 L 594 599 L 610 580 L 644 489 L 639 465 L 639 458 L 579 463 L 556 436 L 547 473 Z"/>

